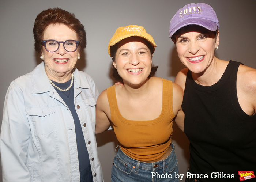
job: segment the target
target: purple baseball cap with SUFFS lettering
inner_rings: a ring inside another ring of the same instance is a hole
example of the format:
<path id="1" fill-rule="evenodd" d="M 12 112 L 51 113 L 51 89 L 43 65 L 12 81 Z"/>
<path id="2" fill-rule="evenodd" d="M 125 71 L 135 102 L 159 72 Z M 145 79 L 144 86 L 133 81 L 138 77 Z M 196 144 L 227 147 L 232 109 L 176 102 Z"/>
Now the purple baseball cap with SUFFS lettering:
<path id="1" fill-rule="evenodd" d="M 199 25 L 208 30 L 219 30 L 219 20 L 213 8 L 205 3 L 191 3 L 178 10 L 170 22 L 170 37 L 187 25 Z"/>

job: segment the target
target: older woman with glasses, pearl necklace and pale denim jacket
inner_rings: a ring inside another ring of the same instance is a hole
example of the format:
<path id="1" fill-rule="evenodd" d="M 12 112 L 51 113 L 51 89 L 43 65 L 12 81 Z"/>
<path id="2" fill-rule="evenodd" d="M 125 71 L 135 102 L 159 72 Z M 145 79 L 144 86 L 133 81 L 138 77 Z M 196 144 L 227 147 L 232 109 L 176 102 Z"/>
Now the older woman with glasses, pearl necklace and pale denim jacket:
<path id="1" fill-rule="evenodd" d="M 103 181 L 95 142 L 98 90 L 74 67 L 86 47 L 84 26 L 54 8 L 37 16 L 33 33 L 44 61 L 8 88 L 3 181 Z"/>

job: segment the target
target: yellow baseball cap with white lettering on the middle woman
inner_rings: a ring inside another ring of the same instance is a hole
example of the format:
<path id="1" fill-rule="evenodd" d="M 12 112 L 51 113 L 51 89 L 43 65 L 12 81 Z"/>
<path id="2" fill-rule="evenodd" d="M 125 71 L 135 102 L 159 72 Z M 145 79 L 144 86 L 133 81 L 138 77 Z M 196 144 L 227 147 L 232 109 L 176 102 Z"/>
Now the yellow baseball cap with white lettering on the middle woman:
<path id="1" fill-rule="evenodd" d="M 113 37 L 109 41 L 108 46 L 108 53 L 110 55 L 110 47 L 115 45 L 116 43 L 120 42 L 121 40 L 127 38 L 127 37 L 142 37 L 149 41 L 155 51 L 155 47 L 157 46 L 154 42 L 153 37 L 146 32 L 144 27 L 138 26 L 138 25 L 128 25 L 126 27 L 119 27 L 116 32 L 114 33 Z M 111 55 L 110 55 L 111 56 Z"/>

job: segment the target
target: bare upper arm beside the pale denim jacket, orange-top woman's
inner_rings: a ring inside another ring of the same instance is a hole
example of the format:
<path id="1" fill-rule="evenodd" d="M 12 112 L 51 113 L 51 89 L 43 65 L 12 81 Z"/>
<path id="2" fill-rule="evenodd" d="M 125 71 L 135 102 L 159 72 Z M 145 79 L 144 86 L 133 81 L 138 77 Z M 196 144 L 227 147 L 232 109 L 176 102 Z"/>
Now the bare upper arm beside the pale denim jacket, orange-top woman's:
<path id="1" fill-rule="evenodd" d="M 107 90 L 104 90 L 97 99 L 96 104 L 96 134 L 102 133 L 110 126 L 110 107 Z"/>

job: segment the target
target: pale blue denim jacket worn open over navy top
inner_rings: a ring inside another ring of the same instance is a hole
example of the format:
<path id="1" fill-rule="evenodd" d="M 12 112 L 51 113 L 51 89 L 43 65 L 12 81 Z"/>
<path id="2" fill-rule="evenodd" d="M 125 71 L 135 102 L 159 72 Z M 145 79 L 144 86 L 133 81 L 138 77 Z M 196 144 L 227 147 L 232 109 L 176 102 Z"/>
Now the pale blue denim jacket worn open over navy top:
<path id="1" fill-rule="evenodd" d="M 102 182 L 95 138 L 93 79 L 74 71 L 74 102 L 89 153 L 94 182 Z M 0 137 L 3 182 L 79 182 L 75 125 L 50 84 L 44 62 L 10 84 Z"/>

